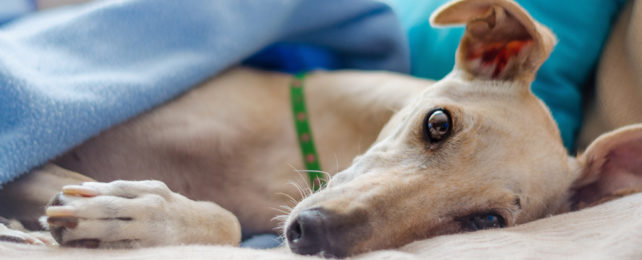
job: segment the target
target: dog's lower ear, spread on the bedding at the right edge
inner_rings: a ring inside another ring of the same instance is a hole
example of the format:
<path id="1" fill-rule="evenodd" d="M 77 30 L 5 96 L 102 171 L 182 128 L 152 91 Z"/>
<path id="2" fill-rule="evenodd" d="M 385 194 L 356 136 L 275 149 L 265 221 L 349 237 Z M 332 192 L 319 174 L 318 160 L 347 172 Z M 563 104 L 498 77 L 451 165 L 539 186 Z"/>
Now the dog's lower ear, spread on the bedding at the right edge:
<path id="1" fill-rule="evenodd" d="M 642 191 L 642 124 L 603 134 L 577 162 L 580 174 L 571 189 L 575 209 Z"/>

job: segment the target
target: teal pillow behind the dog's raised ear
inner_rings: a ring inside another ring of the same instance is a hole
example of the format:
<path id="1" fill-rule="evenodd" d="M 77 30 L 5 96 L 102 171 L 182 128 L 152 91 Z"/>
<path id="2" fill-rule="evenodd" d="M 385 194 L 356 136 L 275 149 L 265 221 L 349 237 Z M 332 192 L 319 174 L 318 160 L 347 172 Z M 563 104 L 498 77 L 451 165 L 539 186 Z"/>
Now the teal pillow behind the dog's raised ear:
<path id="1" fill-rule="evenodd" d="M 405 30 L 411 71 L 418 77 L 440 79 L 454 66 L 462 27 L 432 28 L 430 14 L 448 0 L 387 0 Z M 611 22 L 626 0 L 517 0 L 559 42 L 533 83 L 533 92 L 551 109 L 564 145 L 574 151 L 581 125 L 581 88 L 590 79 Z"/>

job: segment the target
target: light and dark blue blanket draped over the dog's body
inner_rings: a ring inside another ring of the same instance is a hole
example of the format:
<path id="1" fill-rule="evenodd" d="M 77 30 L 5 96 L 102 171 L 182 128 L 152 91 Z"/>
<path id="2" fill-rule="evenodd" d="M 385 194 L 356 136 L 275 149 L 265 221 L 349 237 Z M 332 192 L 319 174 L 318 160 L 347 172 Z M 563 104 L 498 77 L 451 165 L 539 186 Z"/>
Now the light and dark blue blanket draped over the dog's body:
<path id="1" fill-rule="evenodd" d="M 327 56 L 304 67 L 408 72 L 404 39 L 373 0 L 97 1 L 22 17 L 0 27 L 0 185 L 275 43 Z"/>

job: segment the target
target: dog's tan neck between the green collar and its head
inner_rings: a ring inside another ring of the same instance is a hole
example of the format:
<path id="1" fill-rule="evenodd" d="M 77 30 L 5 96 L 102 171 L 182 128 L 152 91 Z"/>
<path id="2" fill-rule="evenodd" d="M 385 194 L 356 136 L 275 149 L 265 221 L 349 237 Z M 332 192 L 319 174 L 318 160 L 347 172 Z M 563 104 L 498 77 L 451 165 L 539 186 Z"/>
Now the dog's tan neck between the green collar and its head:
<path id="1" fill-rule="evenodd" d="M 347 71 L 312 73 L 304 84 L 321 168 L 334 174 L 365 152 L 390 117 L 432 81 Z"/>

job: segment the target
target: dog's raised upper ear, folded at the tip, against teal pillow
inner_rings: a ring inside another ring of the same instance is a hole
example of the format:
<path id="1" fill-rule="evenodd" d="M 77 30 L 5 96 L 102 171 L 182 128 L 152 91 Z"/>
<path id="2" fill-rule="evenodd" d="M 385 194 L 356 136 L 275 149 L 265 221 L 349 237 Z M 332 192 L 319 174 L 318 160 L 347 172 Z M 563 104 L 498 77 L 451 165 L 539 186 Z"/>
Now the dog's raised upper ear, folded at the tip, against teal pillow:
<path id="1" fill-rule="evenodd" d="M 455 71 L 469 78 L 531 82 L 557 39 L 511 0 L 459 0 L 430 17 L 433 26 L 466 24 Z"/>

